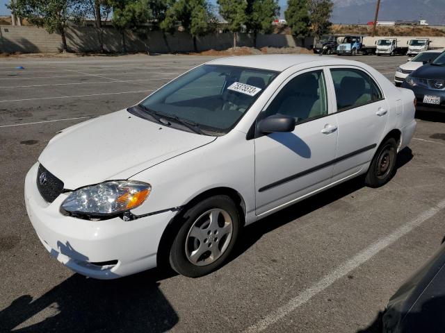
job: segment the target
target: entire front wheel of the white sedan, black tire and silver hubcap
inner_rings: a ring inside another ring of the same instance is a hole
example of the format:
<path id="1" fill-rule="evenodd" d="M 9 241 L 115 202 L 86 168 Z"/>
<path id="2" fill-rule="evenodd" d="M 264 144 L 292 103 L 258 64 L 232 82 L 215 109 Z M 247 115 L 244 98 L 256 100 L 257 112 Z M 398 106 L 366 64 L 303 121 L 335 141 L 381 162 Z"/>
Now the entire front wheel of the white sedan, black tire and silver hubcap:
<path id="1" fill-rule="evenodd" d="M 170 248 L 172 268 L 198 278 L 223 266 L 241 226 L 233 200 L 225 195 L 211 196 L 188 209 L 182 219 Z"/>

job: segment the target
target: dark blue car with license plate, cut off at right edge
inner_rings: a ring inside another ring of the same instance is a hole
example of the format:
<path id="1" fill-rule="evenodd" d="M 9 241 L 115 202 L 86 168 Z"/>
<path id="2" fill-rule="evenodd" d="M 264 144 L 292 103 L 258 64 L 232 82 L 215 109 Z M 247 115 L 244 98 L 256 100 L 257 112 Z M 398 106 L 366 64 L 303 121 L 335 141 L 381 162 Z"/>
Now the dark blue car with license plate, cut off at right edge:
<path id="1" fill-rule="evenodd" d="M 416 95 L 416 110 L 445 112 L 445 52 L 413 71 L 402 87 L 411 89 Z"/>

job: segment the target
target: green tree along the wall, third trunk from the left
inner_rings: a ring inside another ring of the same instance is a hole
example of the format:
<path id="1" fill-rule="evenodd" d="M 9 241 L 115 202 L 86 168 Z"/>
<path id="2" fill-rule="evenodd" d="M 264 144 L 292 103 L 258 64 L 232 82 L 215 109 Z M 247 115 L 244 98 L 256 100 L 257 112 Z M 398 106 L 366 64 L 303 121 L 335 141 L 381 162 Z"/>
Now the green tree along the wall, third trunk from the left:
<path id="1" fill-rule="evenodd" d="M 136 31 L 152 19 L 149 0 L 107 0 L 107 3 L 113 8 L 113 26 L 122 36 L 122 51 L 127 52 L 125 30 Z"/>

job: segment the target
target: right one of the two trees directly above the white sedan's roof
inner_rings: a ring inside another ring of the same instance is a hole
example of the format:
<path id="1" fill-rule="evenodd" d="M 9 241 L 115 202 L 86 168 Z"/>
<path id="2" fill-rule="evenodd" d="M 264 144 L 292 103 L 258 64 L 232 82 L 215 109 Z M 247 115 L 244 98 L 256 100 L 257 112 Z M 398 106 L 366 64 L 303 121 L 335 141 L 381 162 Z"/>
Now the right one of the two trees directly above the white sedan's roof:
<path id="1" fill-rule="evenodd" d="M 246 27 L 253 32 L 253 44 L 257 47 L 258 33 L 273 31 L 272 22 L 280 15 L 280 6 L 277 0 L 248 0 L 245 12 L 248 17 Z"/>

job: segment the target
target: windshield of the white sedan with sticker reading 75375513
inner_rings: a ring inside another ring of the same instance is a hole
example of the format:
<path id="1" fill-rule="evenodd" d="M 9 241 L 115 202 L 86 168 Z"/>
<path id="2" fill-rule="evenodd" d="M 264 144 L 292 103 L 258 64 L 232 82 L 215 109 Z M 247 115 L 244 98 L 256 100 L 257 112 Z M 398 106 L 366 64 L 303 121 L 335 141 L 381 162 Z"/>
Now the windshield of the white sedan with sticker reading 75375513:
<path id="1" fill-rule="evenodd" d="M 225 134 L 243 117 L 278 72 L 202 65 L 141 102 L 146 112 L 177 117 L 202 131 Z"/>

